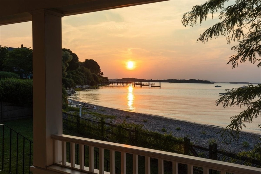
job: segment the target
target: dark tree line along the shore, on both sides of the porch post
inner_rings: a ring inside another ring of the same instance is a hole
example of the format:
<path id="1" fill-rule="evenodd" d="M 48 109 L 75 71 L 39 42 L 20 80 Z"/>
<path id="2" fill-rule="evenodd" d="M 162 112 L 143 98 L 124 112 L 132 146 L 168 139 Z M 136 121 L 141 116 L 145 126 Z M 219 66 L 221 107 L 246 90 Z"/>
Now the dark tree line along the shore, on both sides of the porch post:
<path id="1" fill-rule="evenodd" d="M 62 82 L 67 88 L 77 85 L 98 85 L 108 81 L 103 77 L 99 64 L 93 59 L 79 62 L 78 56 L 70 49 L 62 50 Z M 8 51 L 7 46 L 0 45 L 0 71 L 12 72 L 20 78 L 33 77 L 33 50 L 22 47 Z"/>

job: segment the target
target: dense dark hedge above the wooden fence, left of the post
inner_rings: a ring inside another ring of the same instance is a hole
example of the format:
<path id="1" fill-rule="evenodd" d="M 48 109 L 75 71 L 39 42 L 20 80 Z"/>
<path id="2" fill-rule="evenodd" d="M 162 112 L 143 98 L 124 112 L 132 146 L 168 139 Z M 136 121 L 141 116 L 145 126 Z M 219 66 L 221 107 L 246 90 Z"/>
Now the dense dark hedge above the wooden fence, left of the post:
<path id="1" fill-rule="evenodd" d="M 19 106 L 32 106 L 33 81 L 31 79 L 0 79 L 0 99 Z"/>

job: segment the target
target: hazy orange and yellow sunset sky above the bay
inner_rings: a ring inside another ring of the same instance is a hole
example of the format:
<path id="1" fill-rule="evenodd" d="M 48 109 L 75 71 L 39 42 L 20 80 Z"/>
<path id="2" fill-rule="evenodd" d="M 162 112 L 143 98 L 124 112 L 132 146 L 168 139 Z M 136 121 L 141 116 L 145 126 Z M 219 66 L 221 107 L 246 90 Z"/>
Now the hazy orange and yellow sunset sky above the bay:
<path id="1" fill-rule="evenodd" d="M 249 62 L 232 69 L 235 52 L 223 37 L 197 43 L 217 23 L 211 15 L 200 26 L 183 27 L 184 13 L 205 1 L 172 0 L 62 18 L 62 47 L 79 61 L 93 59 L 109 79 L 199 79 L 261 82 L 261 68 Z M 232 1 L 233 2 L 233 1 Z M 0 26 L 0 45 L 32 47 L 32 22 Z M 133 63 L 131 67 L 130 63 Z M 129 67 L 128 67 L 129 64 Z"/>

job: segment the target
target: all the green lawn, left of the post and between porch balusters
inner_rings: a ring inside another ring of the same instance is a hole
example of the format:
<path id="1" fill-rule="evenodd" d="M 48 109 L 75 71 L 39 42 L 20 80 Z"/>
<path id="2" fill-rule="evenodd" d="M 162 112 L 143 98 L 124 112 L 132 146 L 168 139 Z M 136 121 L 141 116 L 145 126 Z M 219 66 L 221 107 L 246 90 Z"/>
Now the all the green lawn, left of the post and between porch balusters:
<path id="1" fill-rule="evenodd" d="M 25 136 L 29 140 L 33 140 L 33 119 L 20 119 L 20 120 L 14 120 L 14 121 L 8 121 L 8 122 L 2 122 L 0 124 L 5 124 L 12 128 L 13 130 L 17 131 L 21 135 Z M 73 129 L 67 129 L 66 127 L 63 127 L 63 134 L 68 134 L 68 135 L 74 135 L 74 136 L 81 136 L 79 133 L 77 133 Z M 18 160 L 18 173 L 22 173 L 24 170 L 25 173 L 29 173 L 29 143 L 28 141 L 25 142 L 25 167 L 23 169 L 23 138 L 22 136 L 19 135 L 19 140 L 18 140 L 18 156 L 16 155 L 16 149 L 17 149 L 17 134 L 15 134 L 14 131 L 12 131 L 12 139 L 11 139 L 11 167 L 10 171 L 11 173 L 16 173 L 16 159 Z M 26 140 L 26 139 L 25 139 Z M 33 148 L 33 144 L 31 144 Z M 86 152 L 85 152 L 85 166 L 88 166 L 88 146 L 86 147 Z M 75 147 L 77 148 L 77 146 Z M 96 151 L 98 151 L 98 148 L 95 148 Z M 75 149 L 77 150 L 77 149 Z M 2 127 L 0 127 L 0 157 L 2 157 Z M 77 152 L 77 151 L 76 151 Z M 10 130 L 5 127 L 4 130 L 4 170 L 9 171 L 9 153 L 10 153 Z M 79 155 L 79 154 L 78 154 Z M 33 149 L 31 151 L 31 165 L 33 161 Z M 109 158 L 109 150 L 104 151 L 104 157 L 106 159 Z M 99 158 L 99 156 L 97 156 Z M 120 162 L 120 152 L 115 152 L 115 166 L 117 166 L 119 169 L 121 168 L 121 162 Z M 94 152 L 94 167 L 95 167 L 95 152 Z M 139 156 L 139 173 L 144 173 L 145 172 L 145 158 Z M 67 161 L 69 162 L 69 143 L 67 143 Z M 77 160 L 76 160 L 77 161 Z M 79 161 L 78 161 L 79 162 Z M 77 163 L 77 162 L 76 162 Z M 106 170 L 106 160 L 104 160 L 104 169 Z M 99 160 L 97 160 L 97 168 L 99 168 Z M 132 173 L 132 154 L 126 154 L 126 168 L 127 168 L 127 173 Z M 0 159 L 0 170 L 2 169 L 2 158 Z M 108 169 L 109 169 L 109 163 L 108 163 Z M 171 173 L 172 167 L 171 163 L 168 161 L 164 161 L 164 172 L 166 173 Z M 115 169 L 116 172 L 116 169 Z M 151 159 L 151 173 L 157 173 L 158 172 L 158 160 L 157 159 Z M 118 171 L 120 173 L 120 171 Z"/>

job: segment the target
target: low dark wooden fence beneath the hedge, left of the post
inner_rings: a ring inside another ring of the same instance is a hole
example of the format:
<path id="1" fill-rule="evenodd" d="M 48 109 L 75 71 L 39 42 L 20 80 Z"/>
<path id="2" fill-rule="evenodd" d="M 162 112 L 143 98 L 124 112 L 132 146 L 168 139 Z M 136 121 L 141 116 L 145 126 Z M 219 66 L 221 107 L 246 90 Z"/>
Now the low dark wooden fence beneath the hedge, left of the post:
<path id="1" fill-rule="evenodd" d="M 0 121 L 9 121 L 21 118 L 30 118 L 33 115 L 32 107 L 13 106 L 11 103 L 0 101 Z"/>

